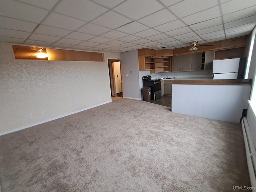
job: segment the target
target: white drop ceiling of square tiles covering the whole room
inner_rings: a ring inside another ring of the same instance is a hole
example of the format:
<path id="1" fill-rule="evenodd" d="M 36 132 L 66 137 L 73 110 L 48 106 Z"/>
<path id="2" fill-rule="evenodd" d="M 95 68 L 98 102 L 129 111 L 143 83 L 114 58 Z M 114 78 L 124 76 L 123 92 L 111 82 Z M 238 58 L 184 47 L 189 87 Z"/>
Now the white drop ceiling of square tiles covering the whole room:
<path id="1" fill-rule="evenodd" d="M 255 0 L 0 0 L 0 42 L 126 52 L 248 35 Z"/>

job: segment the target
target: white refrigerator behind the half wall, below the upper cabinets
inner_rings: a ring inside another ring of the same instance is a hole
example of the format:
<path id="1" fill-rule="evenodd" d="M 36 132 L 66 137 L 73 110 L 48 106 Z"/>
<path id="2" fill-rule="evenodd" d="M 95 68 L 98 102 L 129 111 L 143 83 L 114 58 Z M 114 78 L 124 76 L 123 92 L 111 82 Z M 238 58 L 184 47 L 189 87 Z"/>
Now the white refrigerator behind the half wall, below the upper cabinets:
<path id="1" fill-rule="evenodd" d="M 213 79 L 237 79 L 240 58 L 213 61 Z"/>

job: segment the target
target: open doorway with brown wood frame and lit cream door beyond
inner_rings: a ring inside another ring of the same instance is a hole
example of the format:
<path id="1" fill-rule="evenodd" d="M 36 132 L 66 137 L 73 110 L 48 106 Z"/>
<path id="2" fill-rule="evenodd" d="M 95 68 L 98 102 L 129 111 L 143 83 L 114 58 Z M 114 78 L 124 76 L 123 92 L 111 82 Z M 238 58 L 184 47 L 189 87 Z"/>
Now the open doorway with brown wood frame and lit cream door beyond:
<path id="1" fill-rule="evenodd" d="M 120 60 L 108 59 L 111 96 L 122 96 L 122 76 Z"/>

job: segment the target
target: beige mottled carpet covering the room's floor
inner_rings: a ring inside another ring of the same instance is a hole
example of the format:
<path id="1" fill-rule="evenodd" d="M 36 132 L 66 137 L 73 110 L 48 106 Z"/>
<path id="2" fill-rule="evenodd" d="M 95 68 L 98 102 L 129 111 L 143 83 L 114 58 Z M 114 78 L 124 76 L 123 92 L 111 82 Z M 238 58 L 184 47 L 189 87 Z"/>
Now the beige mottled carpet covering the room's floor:
<path id="1" fill-rule="evenodd" d="M 124 98 L 1 136 L 0 163 L 2 192 L 229 192 L 250 186 L 240 124 Z"/>

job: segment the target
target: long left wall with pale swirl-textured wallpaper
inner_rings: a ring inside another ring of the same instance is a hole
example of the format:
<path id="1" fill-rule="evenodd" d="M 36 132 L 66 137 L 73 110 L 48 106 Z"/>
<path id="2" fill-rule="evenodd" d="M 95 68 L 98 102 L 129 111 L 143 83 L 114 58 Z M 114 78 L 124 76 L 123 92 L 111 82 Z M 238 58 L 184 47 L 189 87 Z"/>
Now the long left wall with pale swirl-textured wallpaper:
<path id="1" fill-rule="evenodd" d="M 110 101 L 107 58 L 14 60 L 11 44 L 0 42 L 0 134 Z"/>

